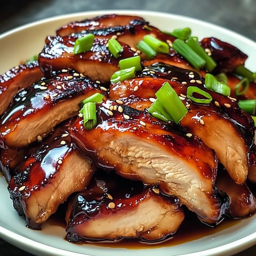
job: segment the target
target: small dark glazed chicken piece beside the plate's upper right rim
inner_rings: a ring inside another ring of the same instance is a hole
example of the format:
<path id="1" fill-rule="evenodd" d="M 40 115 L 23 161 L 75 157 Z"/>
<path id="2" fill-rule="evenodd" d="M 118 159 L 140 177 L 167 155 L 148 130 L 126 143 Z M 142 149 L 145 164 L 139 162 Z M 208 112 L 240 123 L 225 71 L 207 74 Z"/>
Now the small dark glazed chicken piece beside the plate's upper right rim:
<path id="1" fill-rule="evenodd" d="M 210 50 L 211 57 L 217 63 L 214 73 L 233 72 L 237 66 L 244 65 L 247 59 L 247 55 L 237 47 L 215 37 L 203 38 L 201 45 L 204 49 Z"/>

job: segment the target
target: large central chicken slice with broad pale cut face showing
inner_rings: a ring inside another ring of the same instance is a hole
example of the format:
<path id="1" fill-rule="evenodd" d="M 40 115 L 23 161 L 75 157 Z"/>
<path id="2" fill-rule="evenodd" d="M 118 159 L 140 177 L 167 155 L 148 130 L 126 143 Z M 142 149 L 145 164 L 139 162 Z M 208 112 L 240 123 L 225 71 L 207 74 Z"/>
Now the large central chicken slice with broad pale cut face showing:
<path id="1" fill-rule="evenodd" d="M 110 110 L 112 109 L 112 110 Z M 70 135 L 98 166 L 176 196 L 203 222 L 215 224 L 225 211 L 214 189 L 217 158 L 201 139 L 142 111 L 107 100 L 98 106 L 98 124 L 85 130 L 77 118 Z"/>

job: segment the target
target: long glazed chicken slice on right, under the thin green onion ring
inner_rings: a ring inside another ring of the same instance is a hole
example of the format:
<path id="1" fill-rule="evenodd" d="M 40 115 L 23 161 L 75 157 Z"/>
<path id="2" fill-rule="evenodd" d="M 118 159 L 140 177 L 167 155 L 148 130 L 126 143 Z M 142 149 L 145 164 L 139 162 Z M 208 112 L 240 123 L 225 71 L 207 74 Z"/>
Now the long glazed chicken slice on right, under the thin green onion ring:
<path id="1" fill-rule="evenodd" d="M 204 89 L 204 79 L 194 71 L 167 65 L 151 68 L 153 72 L 150 73 L 149 69 L 144 71 L 142 78 L 111 84 L 109 97 L 121 98 L 127 105 L 143 110 L 151 105 L 155 92 L 168 81 L 188 108 L 181 126 L 198 135 L 215 150 L 235 182 L 244 183 L 249 168 L 247 155 L 254 141 L 252 118 L 238 107 L 235 99 Z M 195 85 L 212 95 L 213 101 L 209 105 L 194 103 L 186 98 L 187 87 Z M 132 99 L 132 95 L 137 98 Z"/>

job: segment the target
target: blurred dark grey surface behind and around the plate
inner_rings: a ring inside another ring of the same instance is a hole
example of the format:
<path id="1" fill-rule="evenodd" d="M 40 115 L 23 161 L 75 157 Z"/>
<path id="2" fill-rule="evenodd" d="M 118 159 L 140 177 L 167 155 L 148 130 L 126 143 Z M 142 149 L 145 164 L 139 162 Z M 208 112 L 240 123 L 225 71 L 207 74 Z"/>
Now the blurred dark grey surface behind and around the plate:
<path id="1" fill-rule="evenodd" d="M 121 9 L 180 14 L 214 23 L 256 41 L 256 0 L 4 0 L 0 9 L 0 34 L 55 15 Z M 0 251 L 2 256 L 31 256 L 2 239 Z M 256 255 L 256 246 L 236 254 L 252 255 Z"/>

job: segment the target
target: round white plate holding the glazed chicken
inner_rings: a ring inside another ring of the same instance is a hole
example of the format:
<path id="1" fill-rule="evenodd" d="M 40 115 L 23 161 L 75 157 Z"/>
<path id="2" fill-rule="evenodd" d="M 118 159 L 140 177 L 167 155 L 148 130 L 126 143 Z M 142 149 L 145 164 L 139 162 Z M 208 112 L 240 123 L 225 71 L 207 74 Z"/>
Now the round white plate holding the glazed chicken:
<path id="1" fill-rule="evenodd" d="M 38 53 L 44 45 L 47 35 L 54 35 L 55 29 L 69 21 L 82 20 L 105 13 L 122 13 L 140 15 L 150 21 L 151 25 L 166 31 L 174 28 L 190 27 L 193 35 L 199 38 L 215 36 L 229 42 L 249 55 L 246 66 L 255 69 L 253 62 L 256 60 L 256 43 L 241 35 L 219 26 L 211 25 L 199 20 L 181 17 L 179 15 L 148 12 L 148 11 L 95 11 L 62 15 L 45 19 L 29 25 L 13 29 L 0 35 L 0 73 L 18 65 L 21 60 L 26 60 Z M 36 231 L 25 227 L 25 220 L 14 211 L 12 201 L 9 199 L 7 184 L 0 177 L 0 236 L 7 242 L 20 247 L 35 255 L 58 256 L 131 256 L 131 255 L 231 255 L 256 244 L 256 215 L 251 218 L 236 222 L 234 225 L 191 242 L 185 242 L 170 247 L 159 246 L 156 249 L 123 249 L 122 247 L 100 247 L 93 244 L 71 244 L 65 241 L 65 230 L 60 226 L 43 225 L 43 230 Z"/>

